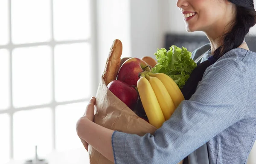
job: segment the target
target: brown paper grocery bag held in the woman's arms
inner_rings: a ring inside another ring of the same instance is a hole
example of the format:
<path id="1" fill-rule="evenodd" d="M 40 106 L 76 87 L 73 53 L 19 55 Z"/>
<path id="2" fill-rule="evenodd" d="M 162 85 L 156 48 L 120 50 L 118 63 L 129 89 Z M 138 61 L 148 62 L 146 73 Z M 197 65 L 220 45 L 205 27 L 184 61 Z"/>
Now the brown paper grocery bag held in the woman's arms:
<path id="1" fill-rule="evenodd" d="M 138 117 L 128 106 L 117 98 L 101 78 L 96 93 L 96 108 L 94 122 L 108 129 L 137 134 L 153 133 L 157 128 Z M 113 164 L 89 145 L 90 164 Z M 180 161 L 179 164 L 182 164 Z"/>

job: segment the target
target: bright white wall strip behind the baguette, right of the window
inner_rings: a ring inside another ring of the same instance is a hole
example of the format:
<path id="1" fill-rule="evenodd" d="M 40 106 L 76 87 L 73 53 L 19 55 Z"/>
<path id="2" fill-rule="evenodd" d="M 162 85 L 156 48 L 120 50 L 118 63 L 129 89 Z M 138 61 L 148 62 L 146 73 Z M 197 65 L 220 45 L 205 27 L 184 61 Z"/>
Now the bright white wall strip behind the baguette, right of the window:
<path id="1" fill-rule="evenodd" d="M 121 40 L 123 55 L 131 56 L 130 0 L 97 0 L 97 8 L 97 50 L 102 75 L 113 40 Z"/>

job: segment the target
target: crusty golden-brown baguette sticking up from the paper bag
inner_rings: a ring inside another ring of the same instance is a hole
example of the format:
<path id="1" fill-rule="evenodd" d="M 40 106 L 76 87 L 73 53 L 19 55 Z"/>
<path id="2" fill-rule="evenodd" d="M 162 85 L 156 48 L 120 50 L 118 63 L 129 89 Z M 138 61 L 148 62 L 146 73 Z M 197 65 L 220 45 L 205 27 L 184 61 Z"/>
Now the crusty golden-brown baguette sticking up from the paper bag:
<path id="1" fill-rule="evenodd" d="M 105 69 L 102 74 L 102 78 L 105 81 L 105 84 L 108 84 L 111 81 L 116 80 L 117 73 L 119 71 L 120 62 L 122 55 L 122 42 L 118 39 L 113 41 L 108 58 L 105 64 Z"/>

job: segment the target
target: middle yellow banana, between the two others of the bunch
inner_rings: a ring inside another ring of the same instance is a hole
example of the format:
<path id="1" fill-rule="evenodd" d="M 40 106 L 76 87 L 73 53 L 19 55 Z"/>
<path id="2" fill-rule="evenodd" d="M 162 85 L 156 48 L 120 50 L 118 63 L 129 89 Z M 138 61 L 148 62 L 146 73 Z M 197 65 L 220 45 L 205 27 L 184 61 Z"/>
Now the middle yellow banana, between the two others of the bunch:
<path id="1" fill-rule="evenodd" d="M 167 89 L 165 88 L 165 86 L 163 85 L 159 78 L 149 76 L 148 74 L 145 74 L 145 78 L 148 79 L 149 83 L 151 84 L 151 87 L 154 90 L 154 93 L 162 109 L 165 120 L 168 120 L 176 109 L 175 105 L 173 104 L 171 96 L 169 95 Z"/>

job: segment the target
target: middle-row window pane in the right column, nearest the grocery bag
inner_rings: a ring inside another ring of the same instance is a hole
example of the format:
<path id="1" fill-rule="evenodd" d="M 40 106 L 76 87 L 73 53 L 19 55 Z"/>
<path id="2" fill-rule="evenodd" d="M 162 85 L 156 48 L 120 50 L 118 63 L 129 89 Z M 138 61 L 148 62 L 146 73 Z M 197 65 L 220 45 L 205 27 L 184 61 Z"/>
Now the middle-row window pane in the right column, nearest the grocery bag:
<path id="1" fill-rule="evenodd" d="M 56 101 L 87 98 L 91 87 L 91 56 L 87 43 L 55 47 Z"/>

